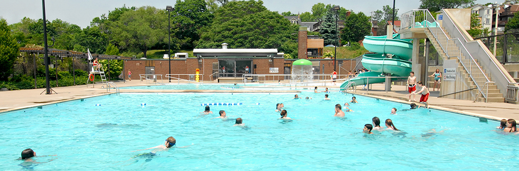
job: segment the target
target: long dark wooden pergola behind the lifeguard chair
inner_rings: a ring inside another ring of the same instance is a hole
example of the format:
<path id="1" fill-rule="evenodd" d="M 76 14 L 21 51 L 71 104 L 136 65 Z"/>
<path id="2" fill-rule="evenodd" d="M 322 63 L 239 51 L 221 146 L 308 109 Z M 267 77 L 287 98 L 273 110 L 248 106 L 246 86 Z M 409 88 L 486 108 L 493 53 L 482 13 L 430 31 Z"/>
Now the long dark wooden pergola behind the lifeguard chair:
<path id="1" fill-rule="evenodd" d="M 45 49 L 44 48 L 20 48 L 20 52 L 27 52 L 30 54 L 44 54 Z M 77 51 L 70 51 L 70 50 L 61 50 L 61 49 L 51 49 L 48 48 L 48 55 L 54 56 L 54 58 L 50 58 L 51 60 L 63 60 L 63 58 L 72 58 L 72 74 L 74 77 L 74 84 L 76 84 L 76 68 L 74 66 L 74 59 L 88 59 L 88 53 L 83 52 L 77 52 Z M 100 60 L 108 60 L 108 66 L 107 66 L 107 73 L 108 73 L 108 80 L 110 80 L 110 60 L 131 60 L 134 58 L 126 57 L 126 56 L 117 56 L 117 55 L 106 55 L 106 54 L 95 54 L 91 53 L 92 58 L 98 58 Z M 41 58 L 43 59 L 43 57 Z M 36 60 L 34 59 L 34 78 L 36 78 Z M 122 67 L 124 68 L 124 62 L 122 63 Z M 58 73 L 58 72 L 56 72 Z M 122 72 L 122 76 L 124 78 L 124 73 Z M 56 76 L 57 77 L 57 76 Z M 56 81 L 57 82 L 57 81 Z M 57 84 L 57 83 L 56 83 Z M 36 88 L 36 79 L 34 80 L 34 88 Z"/>

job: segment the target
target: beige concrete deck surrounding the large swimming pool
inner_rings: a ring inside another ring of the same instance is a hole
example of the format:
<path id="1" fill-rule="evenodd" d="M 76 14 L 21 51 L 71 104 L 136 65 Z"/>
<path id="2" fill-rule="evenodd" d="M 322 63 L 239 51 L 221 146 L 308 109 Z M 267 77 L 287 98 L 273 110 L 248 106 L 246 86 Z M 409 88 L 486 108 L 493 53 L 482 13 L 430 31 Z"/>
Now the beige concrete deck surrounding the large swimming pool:
<path id="1" fill-rule="evenodd" d="M 126 82 L 115 82 L 118 87 L 129 87 L 129 86 L 149 86 L 145 81 L 139 80 L 126 81 Z M 45 95 L 40 93 L 45 89 L 30 89 L 30 90 L 15 90 L 15 91 L 2 91 L 0 96 L 0 112 L 17 110 L 28 107 L 35 107 L 40 105 L 48 105 L 53 103 L 70 101 L 73 99 L 88 98 L 93 96 L 105 95 L 106 89 L 101 88 L 101 84 L 96 84 L 95 88 L 86 85 L 71 86 L 71 87 L 58 87 L 52 88 L 58 94 Z M 247 86 L 254 86 L 248 84 Z M 322 89 L 322 86 L 319 86 Z M 330 88 L 337 88 L 337 86 L 328 86 Z M 375 98 L 385 99 L 388 101 L 399 102 L 410 104 L 408 102 L 408 93 L 406 86 L 392 86 L 392 91 L 385 92 L 384 84 L 373 84 L 372 90 L 361 90 L 362 86 L 358 87 L 357 93 L 365 96 L 371 96 Z M 312 89 L 310 89 L 312 90 Z M 204 93 L 208 90 L 138 90 L 138 89 L 121 89 L 120 92 L 160 92 L 160 93 Z M 274 93 L 274 92 L 289 92 L 297 93 L 297 90 L 212 90 L 211 92 L 221 93 Z M 461 113 L 463 115 L 475 116 L 480 118 L 487 118 L 492 120 L 501 120 L 503 118 L 519 119 L 519 105 L 509 103 L 483 103 L 450 99 L 450 98 L 438 98 L 438 91 L 431 92 L 429 97 L 429 104 L 432 109 L 445 110 L 450 112 Z M 417 100 L 420 96 L 417 96 Z M 360 101 L 362 103 L 362 101 Z"/>

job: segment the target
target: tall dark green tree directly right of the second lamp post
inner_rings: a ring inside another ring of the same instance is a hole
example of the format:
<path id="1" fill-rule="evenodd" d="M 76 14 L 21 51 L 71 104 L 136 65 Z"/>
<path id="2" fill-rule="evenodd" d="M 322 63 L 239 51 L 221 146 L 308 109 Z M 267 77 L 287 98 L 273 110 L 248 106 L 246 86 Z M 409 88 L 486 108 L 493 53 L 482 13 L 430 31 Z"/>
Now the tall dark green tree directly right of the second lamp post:
<path id="1" fill-rule="evenodd" d="M 182 49 L 193 49 L 194 42 L 200 39 L 200 28 L 209 25 L 214 18 L 204 0 L 177 0 L 172 13 L 175 14 L 173 21 L 179 29 L 175 35 L 181 40 Z"/>

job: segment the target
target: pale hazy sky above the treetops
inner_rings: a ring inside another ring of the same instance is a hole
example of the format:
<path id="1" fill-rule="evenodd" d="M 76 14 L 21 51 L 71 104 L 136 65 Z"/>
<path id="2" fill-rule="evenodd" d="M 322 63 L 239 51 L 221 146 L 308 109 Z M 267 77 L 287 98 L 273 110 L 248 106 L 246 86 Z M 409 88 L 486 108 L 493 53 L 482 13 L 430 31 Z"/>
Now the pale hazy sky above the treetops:
<path id="1" fill-rule="evenodd" d="M 61 19 L 63 21 L 76 24 L 81 28 L 90 25 L 93 18 L 108 14 L 115 8 L 135 6 L 154 6 L 156 8 L 166 8 L 167 5 L 174 6 L 176 1 L 149 1 L 149 0 L 47 0 L 45 1 L 46 18 L 49 21 Z M 477 0 L 476 3 L 486 4 L 495 2 L 491 0 Z M 314 4 L 332 4 L 339 5 L 354 12 L 362 11 L 366 16 L 371 16 L 371 11 L 382 10 L 385 5 L 392 6 L 391 0 L 264 0 L 263 4 L 271 11 L 291 11 L 292 13 L 311 12 Z M 23 17 L 31 19 L 40 19 L 43 16 L 42 1 L 39 0 L 0 0 L 0 17 L 7 20 L 8 24 L 20 22 Z M 402 13 L 416 9 L 420 6 L 419 0 L 397 0 L 395 8 L 399 8 L 399 15 Z"/>

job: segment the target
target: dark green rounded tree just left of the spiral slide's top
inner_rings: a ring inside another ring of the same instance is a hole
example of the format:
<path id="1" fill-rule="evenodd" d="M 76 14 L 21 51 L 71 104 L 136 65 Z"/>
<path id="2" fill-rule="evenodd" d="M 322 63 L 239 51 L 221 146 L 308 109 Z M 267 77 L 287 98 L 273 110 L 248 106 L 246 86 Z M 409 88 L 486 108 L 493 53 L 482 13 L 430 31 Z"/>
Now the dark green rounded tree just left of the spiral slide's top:
<path id="1" fill-rule="evenodd" d="M 350 13 L 344 22 L 344 29 L 340 31 L 340 38 L 343 41 L 358 42 L 366 35 L 371 34 L 370 17 L 364 13 Z"/>

